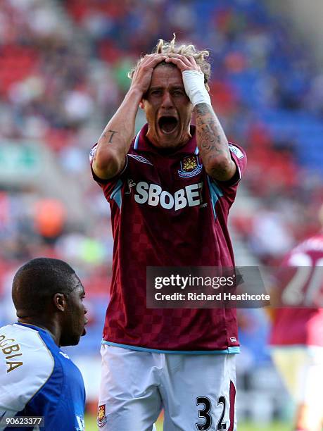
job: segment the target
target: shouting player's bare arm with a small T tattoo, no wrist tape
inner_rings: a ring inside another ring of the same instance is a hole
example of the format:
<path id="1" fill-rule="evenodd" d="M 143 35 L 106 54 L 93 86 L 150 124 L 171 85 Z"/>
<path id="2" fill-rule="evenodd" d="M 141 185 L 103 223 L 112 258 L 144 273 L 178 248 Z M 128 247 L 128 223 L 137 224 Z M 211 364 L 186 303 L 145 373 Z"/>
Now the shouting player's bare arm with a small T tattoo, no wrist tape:
<path id="1" fill-rule="evenodd" d="M 103 180 L 118 175 L 125 166 L 127 152 L 134 137 L 134 122 L 139 103 L 151 83 L 153 68 L 165 60 L 162 54 L 145 56 L 132 77 L 125 99 L 108 122 L 99 139 L 92 168 Z"/>

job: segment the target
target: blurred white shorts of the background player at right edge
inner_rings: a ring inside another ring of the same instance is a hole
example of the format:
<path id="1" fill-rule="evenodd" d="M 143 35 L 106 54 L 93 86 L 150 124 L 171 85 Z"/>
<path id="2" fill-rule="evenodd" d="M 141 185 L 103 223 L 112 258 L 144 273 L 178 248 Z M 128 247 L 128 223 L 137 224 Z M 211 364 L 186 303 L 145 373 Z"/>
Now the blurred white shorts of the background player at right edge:
<path id="1" fill-rule="evenodd" d="M 277 346 L 272 360 L 296 404 L 322 411 L 323 347 Z"/>

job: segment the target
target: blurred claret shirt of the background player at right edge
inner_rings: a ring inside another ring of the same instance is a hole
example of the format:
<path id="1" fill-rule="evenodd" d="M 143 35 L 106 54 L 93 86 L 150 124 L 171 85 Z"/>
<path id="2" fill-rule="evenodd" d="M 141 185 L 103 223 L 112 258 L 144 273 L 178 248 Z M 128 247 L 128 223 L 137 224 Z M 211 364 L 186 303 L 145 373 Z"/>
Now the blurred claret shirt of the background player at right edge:
<path id="1" fill-rule="evenodd" d="M 277 290 L 281 301 L 291 306 L 275 310 L 272 346 L 323 346 L 322 275 L 323 234 L 296 246 L 282 263 Z"/>

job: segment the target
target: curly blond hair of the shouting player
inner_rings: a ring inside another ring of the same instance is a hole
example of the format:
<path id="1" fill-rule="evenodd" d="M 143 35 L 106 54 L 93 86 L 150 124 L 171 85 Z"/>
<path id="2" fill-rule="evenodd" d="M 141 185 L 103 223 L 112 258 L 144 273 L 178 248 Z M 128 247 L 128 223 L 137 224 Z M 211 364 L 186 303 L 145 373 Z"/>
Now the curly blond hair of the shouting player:
<path id="1" fill-rule="evenodd" d="M 159 39 L 157 45 L 152 51 L 152 54 L 182 54 L 182 56 L 186 57 L 194 57 L 196 64 L 200 66 L 202 72 L 204 73 L 204 84 L 205 88 L 210 91 L 210 87 L 208 86 L 208 81 L 210 80 L 210 74 L 211 74 L 211 66 L 210 63 L 205 60 L 205 57 L 209 56 L 209 51 L 206 49 L 203 49 L 202 51 L 198 51 L 196 47 L 192 44 L 176 44 L 175 42 L 176 36 L 174 34 L 174 37 L 170 42 L 166 42 L 163 39 Z M 128 77 L 132 79 L 132 76 L 134 75 L 134 71 L 137 69 L 141 61 L 144 59 L 144 56 L 142 56 L 137 65 L 130 70 L 128 73 Z M 170 64 L 170 63 L 165 63 Z"/>

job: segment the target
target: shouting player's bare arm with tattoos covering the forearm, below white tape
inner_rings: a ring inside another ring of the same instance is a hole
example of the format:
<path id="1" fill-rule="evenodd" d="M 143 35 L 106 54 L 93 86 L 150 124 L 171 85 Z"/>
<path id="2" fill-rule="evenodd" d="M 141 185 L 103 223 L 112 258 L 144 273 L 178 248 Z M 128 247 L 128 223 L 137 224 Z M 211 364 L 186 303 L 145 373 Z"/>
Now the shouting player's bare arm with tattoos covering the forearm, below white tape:
<path id="1" fill-rule="evenodd" d="M 177 65 L 182 73 L 186 70 L 196 70 L 201 73 L 201 68 L 196 64 L 194 57 L 168 54 L 166 61 Z M 203 90 L 206 92 L 204 88 Z M 210 104 L 198 102 L 194 107 L 194 113 L 196 115 L 196 142 L 206 173 L 215 180 L 231 180 L 236 173 L 236 164 L 232 161 L 227 137 L 217 115 Z"/>

